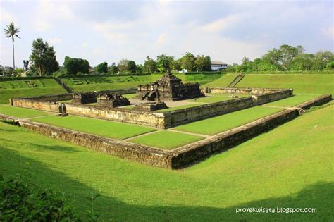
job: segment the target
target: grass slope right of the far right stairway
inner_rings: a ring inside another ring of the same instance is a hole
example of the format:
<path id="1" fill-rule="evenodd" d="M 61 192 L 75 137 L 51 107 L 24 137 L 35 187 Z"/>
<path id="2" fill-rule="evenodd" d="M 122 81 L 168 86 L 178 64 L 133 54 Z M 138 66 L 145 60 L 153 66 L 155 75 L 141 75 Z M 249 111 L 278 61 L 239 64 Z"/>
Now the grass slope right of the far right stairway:
<path id="1" fill-rule="evenodd" d="M 334 94 L 334 75 L 248 74 L 235 87 L 292 88 L 294 94 Z"/>

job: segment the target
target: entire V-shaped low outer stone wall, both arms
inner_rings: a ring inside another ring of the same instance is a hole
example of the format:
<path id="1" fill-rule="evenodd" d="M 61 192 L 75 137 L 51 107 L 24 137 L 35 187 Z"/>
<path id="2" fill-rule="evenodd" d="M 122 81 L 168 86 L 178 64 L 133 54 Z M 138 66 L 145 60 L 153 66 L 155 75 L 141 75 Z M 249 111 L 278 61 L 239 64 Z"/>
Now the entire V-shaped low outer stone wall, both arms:
<path id="1" fill-rule="evenodd" d="M 107 139 L 105 137 L 76 132 L 44 123 L 18 120 L 17 118 L 2 114 L 0 114 L 0 119 L 4 121 L 16 121 L 22 127 L 42 135 L 47 135 L 66 142 L 72 142 L 73 144 L 88 147 L 89 149 L 94 149 L 105 154 L 112 154 L 122 159 L 129 159 L 161 168 L 178 169 L 197 163 L 217 152 L 222 152 L 235 147 L 237 144 L 256 137 L 263 132 L 272 130 L 287 121 L 291 121 L 299 116 L 298 109 L 301 109 L 302 107 L 318 106 L 326 103 L 330 99 L 331 95 L 323 95 L 295 106 L 295 108 L 285 109 L 284 111 L 274 113 L 232 130 L 221 132 L 213 137 L 199 140 L 198 142 L 187 144 L 173 150 L 164 150 L 131 142 Z"/>

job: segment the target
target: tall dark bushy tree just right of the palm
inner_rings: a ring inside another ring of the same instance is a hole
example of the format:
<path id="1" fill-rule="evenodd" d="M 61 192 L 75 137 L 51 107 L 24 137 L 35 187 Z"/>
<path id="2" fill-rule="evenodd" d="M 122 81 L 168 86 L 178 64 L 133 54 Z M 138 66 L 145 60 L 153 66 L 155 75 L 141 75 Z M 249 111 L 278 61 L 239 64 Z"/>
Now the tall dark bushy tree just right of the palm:
<path id="1" fill-rule="evenodd" d="M 35 70 L 39 75 L 51 74 L 59 70 L 54 47 L 43 42 L 41 38 L 32 42 L 30 61 L 32 62 L 31 70 Z"/>

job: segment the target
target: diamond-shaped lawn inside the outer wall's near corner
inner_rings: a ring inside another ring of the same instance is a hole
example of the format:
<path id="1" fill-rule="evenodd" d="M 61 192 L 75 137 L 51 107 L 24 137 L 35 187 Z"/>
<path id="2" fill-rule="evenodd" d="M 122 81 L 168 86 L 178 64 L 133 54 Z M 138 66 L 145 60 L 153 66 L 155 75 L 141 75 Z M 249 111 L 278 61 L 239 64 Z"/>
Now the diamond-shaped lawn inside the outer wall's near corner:
<path id="1" fill-rule="evenodd" d="M 129 142 L 144 144 L 149 147 L 174 149 L 177 147 L 181 147 L 185 144 L 196 142 L 197 140 L 202 140 L 202 139 L 204 139 L 204 137 L 163 130 L 159 132 L 154 132 L 149 135 L 142 135 L 140 137 L 135 137 L 132 140 L 129 140 Z"/>

